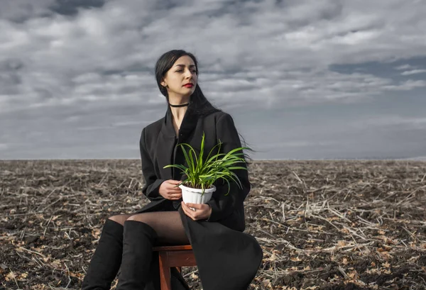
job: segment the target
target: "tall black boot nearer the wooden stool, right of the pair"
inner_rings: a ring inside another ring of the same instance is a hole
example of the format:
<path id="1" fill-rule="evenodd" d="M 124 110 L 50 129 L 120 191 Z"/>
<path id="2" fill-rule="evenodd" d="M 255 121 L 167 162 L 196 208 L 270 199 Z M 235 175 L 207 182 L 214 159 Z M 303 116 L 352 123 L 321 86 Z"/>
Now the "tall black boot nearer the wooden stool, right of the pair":
<path id="1" fill-rule="evenodd" d="M 153 245 L 157 237 L 146 223 L 124 222 L 123 257 L 116 290 L 141 290 L 151 281 Z"/>

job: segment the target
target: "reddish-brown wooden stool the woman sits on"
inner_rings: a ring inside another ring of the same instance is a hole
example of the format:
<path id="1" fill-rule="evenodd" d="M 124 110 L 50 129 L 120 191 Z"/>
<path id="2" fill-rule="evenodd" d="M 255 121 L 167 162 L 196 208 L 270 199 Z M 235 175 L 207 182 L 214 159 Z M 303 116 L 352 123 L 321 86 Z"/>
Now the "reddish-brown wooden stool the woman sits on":
<path id="1" fill-rule="evenodd" d="M 181 267 L 197 266 L 191 245 L 154 247 L 153 251 L 158 252 L 161 290 L 172 289 L 170 282 L 171 267 L 177 267 L 178 271 L 181 272 Z"/>

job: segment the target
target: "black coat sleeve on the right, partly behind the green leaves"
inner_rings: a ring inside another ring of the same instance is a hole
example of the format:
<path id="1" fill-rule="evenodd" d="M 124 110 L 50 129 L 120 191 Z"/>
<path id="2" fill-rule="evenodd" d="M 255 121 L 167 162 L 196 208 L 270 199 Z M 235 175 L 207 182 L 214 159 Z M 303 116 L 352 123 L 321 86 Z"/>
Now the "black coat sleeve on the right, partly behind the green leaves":
<path id="1" fill-rule="evenodd" d="M 217 138 L 223 143 L 220 153 L 226 154 L 237 147 L 241 147 L 239 135 L 231 115 L 225 113 L 220 117 L 217 121 L 216 128 Z M 246 167 L 245 163 L 238 163 L 236 165 Z M 214 191 L 212 199 L 207 201 L 212 207 L 212 213 L 209 218 L 207 218 L 207 221 L 219 221 L 231 215 L 235 208 L 241 208 L 243 206 L 244 199 L 246 199 L 250 191 L 249 174 L 247 170 L 244 169 L 237 169 L 234 170 L 234 172 L 239 177 L 242 189 L 239 188 L 236 182 L 229 182 L 229 194 L 225 196 L 226 192 L 228 192 L 228 184 L 223 179 L 219 179 L 219 181 L 214 184 L 217 190 Z"/>

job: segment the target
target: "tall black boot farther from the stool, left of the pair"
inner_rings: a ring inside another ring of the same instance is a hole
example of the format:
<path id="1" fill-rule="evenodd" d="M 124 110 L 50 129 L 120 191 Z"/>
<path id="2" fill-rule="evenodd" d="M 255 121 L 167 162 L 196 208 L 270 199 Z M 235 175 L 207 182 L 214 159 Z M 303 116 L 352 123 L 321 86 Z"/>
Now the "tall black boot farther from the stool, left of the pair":
<path id="1" fill-rule="evenodd" d="M 82 290 L 111 289 L 111 283 L 120 269 L 123 230 L 123 225 L 107 219 L 84 277 Z"/>

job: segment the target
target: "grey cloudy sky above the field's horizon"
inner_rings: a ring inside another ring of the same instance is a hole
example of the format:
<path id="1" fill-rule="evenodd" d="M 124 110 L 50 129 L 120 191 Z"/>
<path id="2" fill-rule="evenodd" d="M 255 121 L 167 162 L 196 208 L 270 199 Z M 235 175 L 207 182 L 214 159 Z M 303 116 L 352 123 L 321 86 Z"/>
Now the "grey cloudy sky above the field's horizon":
<path id="1" fill-rule="evenodd" d="M 254 160 L 426 156 L 426 2 L 1 0 L 0 159 L 139 158 L 200 62 Z"/>

